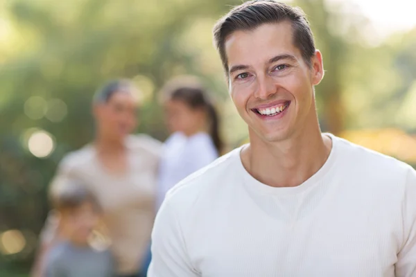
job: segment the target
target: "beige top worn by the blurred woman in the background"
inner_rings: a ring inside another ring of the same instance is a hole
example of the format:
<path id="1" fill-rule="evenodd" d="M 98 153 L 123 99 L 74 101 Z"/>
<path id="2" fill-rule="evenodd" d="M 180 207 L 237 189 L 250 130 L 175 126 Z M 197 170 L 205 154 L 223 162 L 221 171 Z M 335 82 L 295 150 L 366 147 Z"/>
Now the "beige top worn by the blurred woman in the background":
<path id="1" fill-rule="evenodd" d="M 58 179 L 74 178 L 96 194 L 103 207 L 118 274 L 138 271 L 146 254 L 155 217 L 155 183 L 162 144 L 150 136 L 137 135 L 129 136 L 126 146 L 128 174 L 107 173 L 94 146 L 87 145 L 62 160 L 51 184 L 53 189 L 53 184 L 60 183 Z"/>

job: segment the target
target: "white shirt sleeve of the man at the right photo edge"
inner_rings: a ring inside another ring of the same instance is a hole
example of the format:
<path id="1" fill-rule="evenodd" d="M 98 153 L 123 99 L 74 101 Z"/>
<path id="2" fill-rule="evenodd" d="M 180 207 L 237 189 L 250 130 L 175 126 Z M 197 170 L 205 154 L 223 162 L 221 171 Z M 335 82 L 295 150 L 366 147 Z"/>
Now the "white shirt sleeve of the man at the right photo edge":
<path id="1" fill-rule="evenodd" d="M 416 171 L 411 169 L 406 179 L 402 206 L 404 244 L 396 263 L 397 277 L 416 276 Z"/>

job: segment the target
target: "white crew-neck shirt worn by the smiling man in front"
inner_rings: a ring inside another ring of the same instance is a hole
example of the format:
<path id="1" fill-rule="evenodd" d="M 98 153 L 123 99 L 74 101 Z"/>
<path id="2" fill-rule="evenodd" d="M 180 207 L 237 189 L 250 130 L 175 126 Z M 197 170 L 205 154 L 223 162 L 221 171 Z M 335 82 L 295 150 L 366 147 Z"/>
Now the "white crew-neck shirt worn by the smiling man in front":
<path id="1" fill-rule="evenodd" d="M 297 187 L 261 184 L 241 148 L 177 184 L 148 276 L 416 276 L 415 170 L 329 136 L 324 166 Z"/>

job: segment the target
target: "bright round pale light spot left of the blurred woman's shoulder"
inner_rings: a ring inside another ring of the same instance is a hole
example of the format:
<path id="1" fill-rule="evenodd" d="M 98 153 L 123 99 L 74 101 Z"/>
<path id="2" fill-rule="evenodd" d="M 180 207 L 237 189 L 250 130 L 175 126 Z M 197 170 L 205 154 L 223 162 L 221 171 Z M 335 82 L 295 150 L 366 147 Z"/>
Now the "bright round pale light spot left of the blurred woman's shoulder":
<path id="1" fill-rule="evenodd" d="M 48 132 L 42 130 L 33 132 L 28 139 L 28 149 L 33 156 L 46 158 L 55 150 L 55 142 Z"/>

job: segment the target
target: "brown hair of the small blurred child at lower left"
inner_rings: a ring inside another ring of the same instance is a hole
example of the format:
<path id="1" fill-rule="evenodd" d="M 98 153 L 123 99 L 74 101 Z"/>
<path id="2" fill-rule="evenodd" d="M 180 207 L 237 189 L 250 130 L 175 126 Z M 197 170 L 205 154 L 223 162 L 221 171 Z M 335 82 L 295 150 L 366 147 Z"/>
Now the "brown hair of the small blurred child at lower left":
<path id="1" fill-rule="evenodd" d="M 57 211 L 68 211 L 78 208 L 84 203 L 94 206 L 94 211 L 101 212 L 101 206 L 91 190 L 79 181 L 60 179 L 51 190 L 51 204 Z"/>

